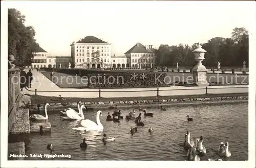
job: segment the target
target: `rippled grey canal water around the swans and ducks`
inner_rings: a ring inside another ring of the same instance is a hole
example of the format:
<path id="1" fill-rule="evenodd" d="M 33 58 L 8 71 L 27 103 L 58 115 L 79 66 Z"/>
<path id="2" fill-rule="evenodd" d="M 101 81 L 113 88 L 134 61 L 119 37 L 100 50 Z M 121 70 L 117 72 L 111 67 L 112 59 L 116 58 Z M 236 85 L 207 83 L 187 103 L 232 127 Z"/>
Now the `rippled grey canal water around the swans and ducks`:
<path id="1" fill-rule="evenodd" d="M 76 109 L 77 110 L 77 109 Z M 79 122 L 62 121 L 59 111 L 49 111 L 51 133 L 31 133 L 25 139 L 26 154 L 50 154 L 46 149 L 53 143 L 56 154 L 71 155 L 71 158 L 54 158 L 53 160 L 186 160 L 183 149 L 184 134 L 190 131 L 194 138 L 204 136 L 207 154 L 201 160 L 220 158 L 216 154 L 220 142 L 229 142 L 231 157 L 228 160 L 248 160 L 248 103 L 191 105 L 166 107 L 166 111 L 158 108 L 147 108 L 154 117 L 144 117 L 143 128 L 133 136 L 130 127 L 134 121 L 127 122 L 125 116 L 132 109 L 122 110 L 124 119 L 120 124 L 107 122 L 108 112 L 102 110 L 100 121 L 104 126 L 102 132 L 77 132 L 72 128 L 79 127 Z M 84 112 L 87 119 L 96 122 L 96 112 Z M 136 116 L 139 111 L 136 111 Z M 187 122 L 186 115 L 193 117 Z M 150 127 L 154 132 L 148 132 Z M 114 142 L 102 142 L 102 135 L 116 137 Z M 87 139 L 88 148 L 79 148 L 82 139 Z M 12 139 L 14 140 L 14 139 Z M 26 158 L 27 160 L 47 160 L 47 158 Z"/>

